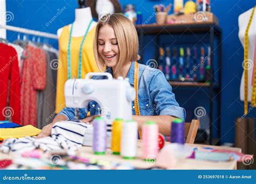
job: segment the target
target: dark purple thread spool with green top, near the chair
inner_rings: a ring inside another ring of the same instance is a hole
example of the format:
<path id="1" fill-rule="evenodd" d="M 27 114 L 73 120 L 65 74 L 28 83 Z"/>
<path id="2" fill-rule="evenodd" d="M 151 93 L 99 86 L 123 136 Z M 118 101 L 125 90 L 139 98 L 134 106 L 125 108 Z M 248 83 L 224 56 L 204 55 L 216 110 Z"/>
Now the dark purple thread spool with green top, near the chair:
<path id="1" fill-rule="evenodd" d="M 171 143 L 184 144 L 184 122 L 181 119 L 175 118 L 171 124 Z"/>

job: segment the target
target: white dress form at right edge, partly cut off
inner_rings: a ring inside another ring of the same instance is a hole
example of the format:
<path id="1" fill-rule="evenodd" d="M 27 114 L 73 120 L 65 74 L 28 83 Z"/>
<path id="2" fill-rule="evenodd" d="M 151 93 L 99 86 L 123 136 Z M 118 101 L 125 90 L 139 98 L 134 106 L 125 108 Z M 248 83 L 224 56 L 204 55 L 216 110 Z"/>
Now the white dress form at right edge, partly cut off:
<path id="1" fill-rule="evenodd" d="M 242 13 L 238 17 L 238 25 L 239 25 L 239 39 L 243 47 L 245 47 L 245 31 L 248 25 L 251 13 L 253 8 L 247 10 L 246 12 Z M 255 39 L 256 39 L 256 13 L 254 12 L 252 23 L 248 32 L 248 102 L 251 102 L 252 99 L 252 75 L 253 75 L 253 65 L 254 65 L 254 52 L 255 52 Z M 252 64 L 253 63 L 253 64 Z M 256 67 L 256 66 L 255 66 Z M 256 75 L 256 74 L 255 74 Z M 244 72 L 242 73 L 242 79 L 240 84 L 240 100 L 245 100 L 245 93 L 244 93 Z"/>

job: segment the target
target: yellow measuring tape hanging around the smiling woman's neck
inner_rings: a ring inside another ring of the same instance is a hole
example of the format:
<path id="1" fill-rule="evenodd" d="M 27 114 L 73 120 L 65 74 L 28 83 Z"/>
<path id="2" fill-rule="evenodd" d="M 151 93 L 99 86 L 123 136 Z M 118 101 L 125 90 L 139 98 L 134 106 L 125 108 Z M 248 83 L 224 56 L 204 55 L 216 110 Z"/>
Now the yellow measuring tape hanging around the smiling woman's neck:
<path id="1" fill-rule="evenodd" d="M 135 99 L 134 99 L 134 107 L 135 107 L 135 115 L 140 116 L 139 112 L 139 101 L 138 101 L 138 86 L 139 86 L 139 64 L 137 61 L 134 61 L 134 89 L 135 89 Z M 142 139 L 142 131 L 139 129 L 139 138 Z"/>

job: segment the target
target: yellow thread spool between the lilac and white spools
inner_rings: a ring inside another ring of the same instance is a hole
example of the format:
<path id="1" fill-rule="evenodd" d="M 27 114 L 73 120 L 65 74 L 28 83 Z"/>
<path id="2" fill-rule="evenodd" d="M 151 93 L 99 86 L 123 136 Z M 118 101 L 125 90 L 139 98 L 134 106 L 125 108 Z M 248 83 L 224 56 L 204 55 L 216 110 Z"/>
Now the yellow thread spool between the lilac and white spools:
<path id="1" fill-rule="evenodd" d="M 111 150 L 113 154 L 120 154 L 121 149 L 121 135 L 122 135 L 123 119 L 114 119 L 112 126 L 112 144 Z"/>

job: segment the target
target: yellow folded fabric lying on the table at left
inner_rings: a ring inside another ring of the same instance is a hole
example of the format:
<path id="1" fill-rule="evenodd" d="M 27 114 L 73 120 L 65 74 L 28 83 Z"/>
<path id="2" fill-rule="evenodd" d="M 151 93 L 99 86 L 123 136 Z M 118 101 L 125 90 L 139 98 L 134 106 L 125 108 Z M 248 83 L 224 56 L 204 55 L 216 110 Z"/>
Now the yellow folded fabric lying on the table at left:
<path id="1" fill-rule="evenodd" d="M 40 129 L 37 129 L 32 125 L 26 125 L 19 128 L 0 129 L 0 140 L 26 136 L 37 136 L 40 132 Z"/>

